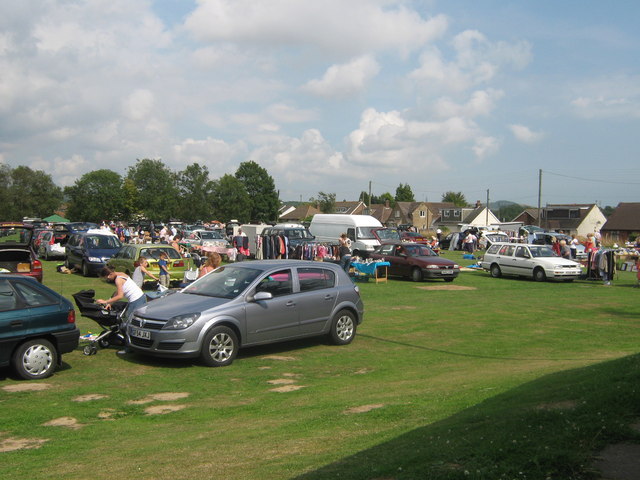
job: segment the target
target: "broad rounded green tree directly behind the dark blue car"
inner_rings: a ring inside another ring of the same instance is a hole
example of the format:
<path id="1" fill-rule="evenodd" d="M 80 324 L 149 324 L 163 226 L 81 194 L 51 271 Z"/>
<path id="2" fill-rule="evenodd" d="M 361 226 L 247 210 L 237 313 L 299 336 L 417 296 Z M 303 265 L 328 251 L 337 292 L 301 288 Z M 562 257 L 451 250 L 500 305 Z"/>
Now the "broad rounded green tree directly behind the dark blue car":
<path id="1" fill-rule="evenodd" d="M 100 222 L 122 218 L 122 177 L 112 170 L 85 173 L 64 193 L 69 199 L 69 220 Z"/>

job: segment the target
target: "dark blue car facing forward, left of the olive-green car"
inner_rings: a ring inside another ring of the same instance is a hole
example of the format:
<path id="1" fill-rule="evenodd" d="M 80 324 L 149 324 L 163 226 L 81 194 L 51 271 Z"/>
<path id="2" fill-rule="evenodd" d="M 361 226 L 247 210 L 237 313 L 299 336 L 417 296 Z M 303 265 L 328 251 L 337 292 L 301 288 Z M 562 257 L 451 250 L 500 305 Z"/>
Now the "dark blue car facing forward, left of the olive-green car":
<path id="1" fill-rule="evenodd" d="M 74 233 L 65 245 L 65 266 L 80 269 L 85 277 L 97 275 L 121 247 L 117 236 L 100 230 Z"/>

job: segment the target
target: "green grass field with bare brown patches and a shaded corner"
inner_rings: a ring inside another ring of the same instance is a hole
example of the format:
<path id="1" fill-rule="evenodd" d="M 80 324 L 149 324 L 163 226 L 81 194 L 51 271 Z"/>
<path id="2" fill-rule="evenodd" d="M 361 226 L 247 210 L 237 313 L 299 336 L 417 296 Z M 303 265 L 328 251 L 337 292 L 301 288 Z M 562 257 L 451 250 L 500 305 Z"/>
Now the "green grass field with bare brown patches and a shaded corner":
<path id="1" fill-rule="evenodd" d="M 55 264 L 51 288 L 109 296 Z M 0 477 L 593 478 L 599 449 L 640 443 L 635 284 L 363 283 L 365 322 L 345 347 L 247 349 L 219 369 L 79 349 L 42 382 L 2 370 Z"/>

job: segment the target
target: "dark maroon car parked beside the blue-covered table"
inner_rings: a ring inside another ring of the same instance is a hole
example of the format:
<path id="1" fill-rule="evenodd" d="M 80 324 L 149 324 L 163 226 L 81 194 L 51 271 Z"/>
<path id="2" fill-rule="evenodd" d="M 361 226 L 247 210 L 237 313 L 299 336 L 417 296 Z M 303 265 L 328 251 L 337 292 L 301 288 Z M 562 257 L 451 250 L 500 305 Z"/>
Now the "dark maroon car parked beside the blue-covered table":
<path id="1" fill-rule="evenodd" d="M 425 278 L 442 278 L 445 282 L 453 282 L 460 274 L 457 263 L 439 257 L 431 248 L 419 243 L 380 245 L 369 257 L 389 262 L 389 275 L 407 277 L 414 282 Z"/>

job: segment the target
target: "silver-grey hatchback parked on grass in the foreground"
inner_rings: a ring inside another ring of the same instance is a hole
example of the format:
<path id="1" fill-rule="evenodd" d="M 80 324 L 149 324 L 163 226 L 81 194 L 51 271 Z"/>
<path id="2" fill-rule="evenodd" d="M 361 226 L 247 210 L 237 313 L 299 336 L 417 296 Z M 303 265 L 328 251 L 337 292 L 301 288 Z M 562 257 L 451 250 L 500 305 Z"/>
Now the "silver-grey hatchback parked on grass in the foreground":
<path id="1" fill-rule="evenodd" d="M 364 306 L 338 265 L 260 260 L 219 267 L 183 290 L 137 310 L 130 348 L 162 357 L 229 365 L 240 347 L 328 335 L 353 340 Z"/>

